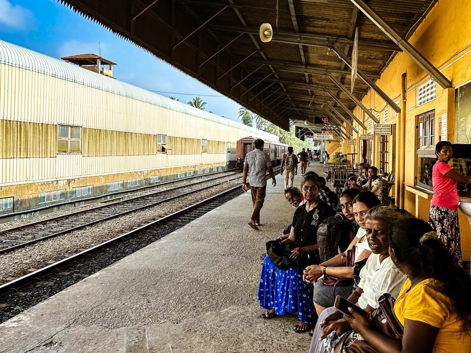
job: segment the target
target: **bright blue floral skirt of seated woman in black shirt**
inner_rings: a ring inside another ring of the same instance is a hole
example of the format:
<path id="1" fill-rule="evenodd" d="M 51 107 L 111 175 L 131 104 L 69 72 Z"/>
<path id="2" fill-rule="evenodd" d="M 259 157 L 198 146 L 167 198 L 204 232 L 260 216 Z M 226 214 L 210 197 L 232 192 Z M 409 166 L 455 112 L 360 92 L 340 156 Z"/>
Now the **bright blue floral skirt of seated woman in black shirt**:
<path id="1" fill-rule="evenodd" d="M 317 315 L 313 303 L 313 284 L 303 281 L 303 269 L 280 270 L 268 256 L 263 260 L 257 294 L 260 306 L 277 315 L 298 313 L 298 319 L 313 325 Z"/>

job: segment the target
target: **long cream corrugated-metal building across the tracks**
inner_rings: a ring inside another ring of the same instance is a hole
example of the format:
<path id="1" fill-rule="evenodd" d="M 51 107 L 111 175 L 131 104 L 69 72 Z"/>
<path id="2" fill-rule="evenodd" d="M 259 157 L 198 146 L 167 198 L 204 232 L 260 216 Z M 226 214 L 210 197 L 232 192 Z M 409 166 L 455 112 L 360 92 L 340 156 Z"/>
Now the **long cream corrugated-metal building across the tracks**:
<path id="1" fill-rule="evenodd" d="M 0 222 L 233 168 L 247 135 L 278 141 L 119 81 L 114 63 L 86 55 L 96 62 L 80 67 L 83 55 L 0 41 Z"/>

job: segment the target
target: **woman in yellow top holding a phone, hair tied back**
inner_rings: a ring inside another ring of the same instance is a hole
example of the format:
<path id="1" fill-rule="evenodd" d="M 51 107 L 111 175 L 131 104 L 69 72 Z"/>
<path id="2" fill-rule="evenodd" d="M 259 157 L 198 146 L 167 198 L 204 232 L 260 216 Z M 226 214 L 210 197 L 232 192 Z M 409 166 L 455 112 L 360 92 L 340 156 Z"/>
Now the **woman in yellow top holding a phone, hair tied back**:
<path id="1" fill-rule="evenodd" d="M 397 221 L 389 252 L 408 277 L 394 304 L 404 326 L 402 340 L 374 331 L 354 310 L 354 318 L 345 315 L 345 320 L 378 353 L 471 352 L 471 278 L 455 265 L 428 223 Z M 339 344 L 336 352 L 341 351 L 349 352 Z"/>

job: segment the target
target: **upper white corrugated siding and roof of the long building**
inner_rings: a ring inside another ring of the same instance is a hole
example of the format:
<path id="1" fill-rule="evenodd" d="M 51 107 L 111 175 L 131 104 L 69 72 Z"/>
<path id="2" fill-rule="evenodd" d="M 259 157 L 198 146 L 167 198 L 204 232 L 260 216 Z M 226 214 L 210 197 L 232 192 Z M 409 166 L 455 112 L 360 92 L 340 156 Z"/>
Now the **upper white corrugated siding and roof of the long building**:
<path id="1" fill-rule="evenodd" d="M 216 123 L 210 125 L 230 126 L 244 136 L 277 141 L 275 135 L 4 41 L 0 41 L 0 67 L 1 77 L 6 78 L 0 87 L 3 119 L 152 133 L 164 130 L 167 123 L 183 131 L 192 126 L 186 120 L 186 126 L 179 126 L 175 120 L 191 116 Z M 181 136 L 172 132 L 168 134 Z"/>

